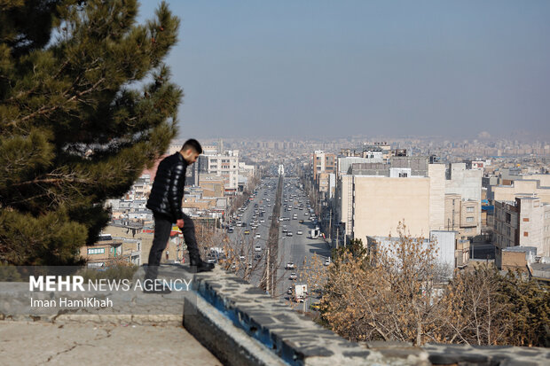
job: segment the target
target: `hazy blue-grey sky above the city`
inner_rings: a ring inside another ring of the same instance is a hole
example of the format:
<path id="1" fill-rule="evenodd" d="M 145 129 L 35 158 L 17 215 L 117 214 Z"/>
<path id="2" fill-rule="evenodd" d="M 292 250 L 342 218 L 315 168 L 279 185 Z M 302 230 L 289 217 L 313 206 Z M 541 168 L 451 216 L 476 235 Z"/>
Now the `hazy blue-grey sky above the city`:
<path id="1" fill-rule="evenodd" d="M 548 0 L 169 4 L 182 137 L 550 136 Z"/>

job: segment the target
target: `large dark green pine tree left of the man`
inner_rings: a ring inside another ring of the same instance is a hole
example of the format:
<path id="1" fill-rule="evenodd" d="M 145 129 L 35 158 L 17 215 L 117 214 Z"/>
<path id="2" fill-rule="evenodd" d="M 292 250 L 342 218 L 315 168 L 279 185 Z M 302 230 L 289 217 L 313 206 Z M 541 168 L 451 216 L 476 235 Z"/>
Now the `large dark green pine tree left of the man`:
<path id="1" fill-rule="evenodd" d="M 0 261 L 71 264 L 177 134 L 179 19 L 136 0 L 0 0 Z"/>

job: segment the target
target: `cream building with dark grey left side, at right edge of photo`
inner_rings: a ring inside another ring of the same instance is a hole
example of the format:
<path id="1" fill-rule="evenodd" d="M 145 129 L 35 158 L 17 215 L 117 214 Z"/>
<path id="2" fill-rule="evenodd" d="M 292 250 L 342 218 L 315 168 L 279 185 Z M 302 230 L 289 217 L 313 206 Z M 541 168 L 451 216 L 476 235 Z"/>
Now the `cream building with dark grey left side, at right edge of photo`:
<path id="1" fill-rule="evenodd" d="M 508 247 L 532 246 L 538 257 L 550 257 L 550 205 L 529 196 L 495 201 L 493 244 L 499 268 Z"/>

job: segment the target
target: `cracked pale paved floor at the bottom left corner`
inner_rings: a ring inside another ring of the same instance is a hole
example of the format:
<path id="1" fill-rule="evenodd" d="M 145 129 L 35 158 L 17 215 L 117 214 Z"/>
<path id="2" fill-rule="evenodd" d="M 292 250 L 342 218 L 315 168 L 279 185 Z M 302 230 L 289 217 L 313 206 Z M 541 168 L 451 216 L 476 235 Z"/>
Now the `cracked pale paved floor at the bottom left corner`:
<path id="1" fill-rule="evenodd" d="M 0 363 L 206 365 L 222 363 L 182 326 L 0 321 Z"/>

